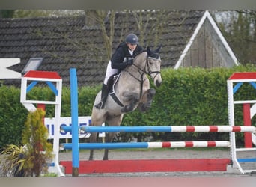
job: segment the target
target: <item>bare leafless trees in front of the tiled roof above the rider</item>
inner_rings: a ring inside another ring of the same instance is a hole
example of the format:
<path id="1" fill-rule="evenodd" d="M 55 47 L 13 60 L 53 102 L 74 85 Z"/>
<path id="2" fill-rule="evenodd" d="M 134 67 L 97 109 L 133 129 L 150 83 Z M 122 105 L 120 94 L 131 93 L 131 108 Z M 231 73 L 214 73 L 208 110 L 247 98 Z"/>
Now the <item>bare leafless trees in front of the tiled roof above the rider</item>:
<path id="1" fill-rule="evenodd" d="M 100 27 L 109 59 L 112 55 L 112 43 L 115 35 L 115 13 L 115 10 L 85 10 L 85 25 L 88 28 Z M 128 23 L 129 16 L 133 16 L 138 28 L 141 46 L 145 46 L 145 38 L 150 38 L 153 41 L 153 46 L 159 45 L 159 37 L 164 29 L 164 23 L 168 19 L 165 16 L 165 10 L 123 10 L 119 13 L 123 14 L 123 19 L 127 19 Z M 119 42 L 124 41 L 125 34 L 133 32 L 129 31 L 129 25 L 126 21 L 120 27 L 122 34 Z M 152 43 L 150 44 L 152 45 Z"/>

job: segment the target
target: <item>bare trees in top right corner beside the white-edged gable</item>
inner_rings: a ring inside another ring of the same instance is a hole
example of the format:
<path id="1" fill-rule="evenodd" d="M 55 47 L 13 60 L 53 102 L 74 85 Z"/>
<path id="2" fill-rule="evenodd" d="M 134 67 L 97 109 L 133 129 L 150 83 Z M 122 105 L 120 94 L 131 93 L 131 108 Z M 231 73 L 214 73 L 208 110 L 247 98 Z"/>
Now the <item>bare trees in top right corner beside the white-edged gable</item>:
<path id="1" fill-rule="evenodd" d="M 256 11 L 227 10 L 219 15 L 219 28 L 240 64 L 256 64 Z"/>

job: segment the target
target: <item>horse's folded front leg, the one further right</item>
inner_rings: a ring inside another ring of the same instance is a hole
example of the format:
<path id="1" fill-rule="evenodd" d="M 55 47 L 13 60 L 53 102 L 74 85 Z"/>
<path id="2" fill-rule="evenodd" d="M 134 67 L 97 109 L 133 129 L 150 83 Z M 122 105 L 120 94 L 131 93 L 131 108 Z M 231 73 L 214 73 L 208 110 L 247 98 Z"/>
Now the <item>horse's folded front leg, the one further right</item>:
<path id="1" fill-rule="evenodd" d="M 148 89 L 142 96 L 141 102 L 138 105 L 138 109 L 141 112 L 147 111 L 152 104 L 153 96 L 155 96 L 156 91 L 153 88 Z"/>

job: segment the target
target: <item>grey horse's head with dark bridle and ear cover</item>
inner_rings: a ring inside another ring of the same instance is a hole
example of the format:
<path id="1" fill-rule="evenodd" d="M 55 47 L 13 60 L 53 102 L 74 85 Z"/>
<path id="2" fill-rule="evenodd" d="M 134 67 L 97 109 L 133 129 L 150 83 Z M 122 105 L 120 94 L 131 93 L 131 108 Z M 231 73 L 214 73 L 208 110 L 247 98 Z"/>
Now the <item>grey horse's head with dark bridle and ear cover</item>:
<path id="1" fill-rule="evenodd" d="M 156 87 L 159 87 L 162 83 L 161 71 L 161 58 L 159 56 L 159 50 L 162 46 L 159 46 L 155 51 L 150 50 L 147 47 L 147 74 L 153 79 L 153 83 Z"/>

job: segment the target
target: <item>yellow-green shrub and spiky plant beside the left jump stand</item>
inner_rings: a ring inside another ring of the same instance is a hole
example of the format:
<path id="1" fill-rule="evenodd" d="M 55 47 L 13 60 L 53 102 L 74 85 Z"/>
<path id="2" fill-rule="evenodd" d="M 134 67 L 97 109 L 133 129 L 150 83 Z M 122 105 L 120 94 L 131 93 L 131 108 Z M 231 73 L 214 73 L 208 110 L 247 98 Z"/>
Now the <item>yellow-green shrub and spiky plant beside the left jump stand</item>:
<path id="1" fill-rule="evenodd" d="M 0 169 L 3 176 L 40 176 L 48 170 L 52 160 L 52 144 L 43 124 L 45 111 L 37 108 L 29 112 L 22 131 L 22 145 L 7 145 L 1 151 Z"/>

